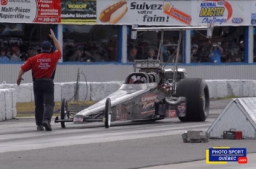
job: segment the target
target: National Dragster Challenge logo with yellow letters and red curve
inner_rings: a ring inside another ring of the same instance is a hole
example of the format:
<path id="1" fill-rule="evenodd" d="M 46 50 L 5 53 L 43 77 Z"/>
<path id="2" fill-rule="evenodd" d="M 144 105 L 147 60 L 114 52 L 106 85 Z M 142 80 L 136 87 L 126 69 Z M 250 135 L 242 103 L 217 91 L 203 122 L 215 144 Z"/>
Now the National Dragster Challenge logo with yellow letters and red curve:
<path id="1" fill-rule="evenodd" d="M 200 4 L 199 17 L 203 24 L 223 24 L 232 17 L 232 5 L 225 0 L 206 0 Z"/>

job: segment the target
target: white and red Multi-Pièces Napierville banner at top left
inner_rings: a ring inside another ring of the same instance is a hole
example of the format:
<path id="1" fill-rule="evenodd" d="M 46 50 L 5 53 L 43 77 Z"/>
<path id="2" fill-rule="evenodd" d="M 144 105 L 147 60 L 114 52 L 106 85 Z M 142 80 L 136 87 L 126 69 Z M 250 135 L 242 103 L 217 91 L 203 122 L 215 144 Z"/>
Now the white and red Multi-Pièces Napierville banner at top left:
<path id="1" fill-rule="evenodd" d="M 1 0 L 0 7 L 1 22 L 60 22 L 60 0 Z"/>

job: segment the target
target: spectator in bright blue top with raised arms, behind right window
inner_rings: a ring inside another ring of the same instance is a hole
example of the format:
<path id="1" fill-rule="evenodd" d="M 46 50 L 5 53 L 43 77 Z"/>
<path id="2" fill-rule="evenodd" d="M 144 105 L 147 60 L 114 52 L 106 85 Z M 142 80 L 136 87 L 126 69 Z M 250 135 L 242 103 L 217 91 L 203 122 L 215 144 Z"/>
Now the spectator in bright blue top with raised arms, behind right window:
<path id="1" fill-rule="evenodd" d="M 223 55 L 223 48 L 220 46 L 221 43 L 217 41 L 212 41 L 211 54 L 210 54 L 210 62 L 213 63 L 221 63 L 221 57 Z"/>

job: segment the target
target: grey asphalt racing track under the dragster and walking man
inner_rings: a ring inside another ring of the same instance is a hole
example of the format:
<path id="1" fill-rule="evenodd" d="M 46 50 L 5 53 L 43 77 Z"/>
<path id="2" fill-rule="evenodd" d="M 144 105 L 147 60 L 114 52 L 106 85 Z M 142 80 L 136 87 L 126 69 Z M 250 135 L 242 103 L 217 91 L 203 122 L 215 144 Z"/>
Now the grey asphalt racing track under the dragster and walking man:
<path id="1" fill-rule="evenodd" d="M 122 168 L 252 168 L 255 140 L 210 139 L 183 143 L 186 130 L 206 130 L 230 100 L 211 101 L 203 123 L 166 119 L 153 123 L 103 123 L 73 125 L 52 123 L 53 131 L 36 131 L 33 118 L 0 123 L 0 168 L 122 169 Z M 206 165 L 206 149 L 213 146 L 247 148 L 248 165 Z"/>

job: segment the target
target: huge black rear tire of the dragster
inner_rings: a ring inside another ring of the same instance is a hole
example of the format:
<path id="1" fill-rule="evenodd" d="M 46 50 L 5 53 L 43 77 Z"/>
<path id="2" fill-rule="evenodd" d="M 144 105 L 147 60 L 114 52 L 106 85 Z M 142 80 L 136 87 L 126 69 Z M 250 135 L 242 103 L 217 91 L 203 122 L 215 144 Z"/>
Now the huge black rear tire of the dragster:
<path id="1" fill-rule="evenodd" d="M 201 78 L 186 78 L 177 85 L 177 97 L 186 97 L 186 117 L 179 117 L 180 121 L 205 121 L 209 115 L 209 88 Z"/>

